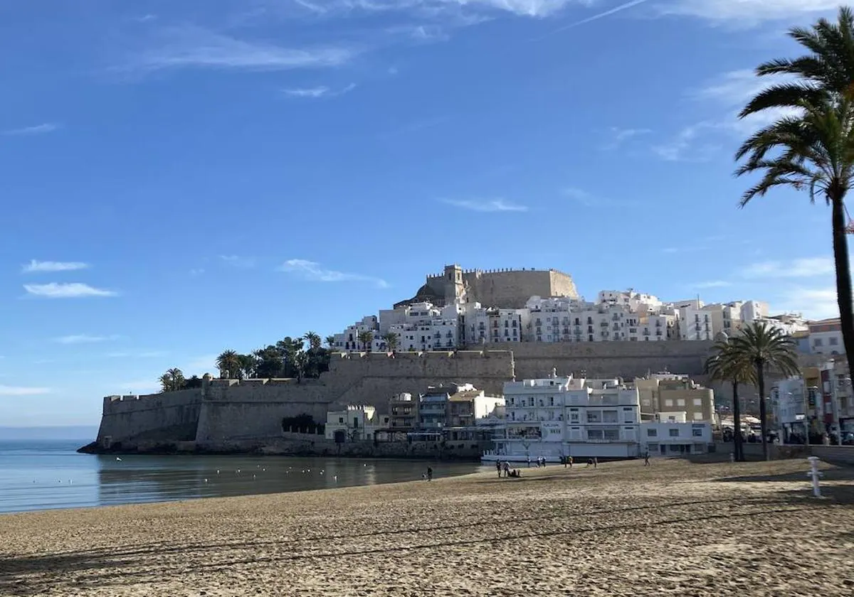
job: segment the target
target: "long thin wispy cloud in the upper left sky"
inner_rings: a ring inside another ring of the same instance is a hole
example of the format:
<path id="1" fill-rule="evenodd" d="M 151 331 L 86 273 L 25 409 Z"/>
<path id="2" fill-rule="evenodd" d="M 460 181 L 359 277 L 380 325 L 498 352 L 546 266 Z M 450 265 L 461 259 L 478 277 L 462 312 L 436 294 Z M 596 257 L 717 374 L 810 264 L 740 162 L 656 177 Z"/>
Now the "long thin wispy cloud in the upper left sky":
<path id="1" fill-rule="evenodd" d="M 162 29 L 151 48 L 129 61 L 127 70 L 176 68 L 290 70 L 338 67 L 352 60 L 357 49 L 339 46 L 283 48 L 230 38 L 202 27 Z"/>

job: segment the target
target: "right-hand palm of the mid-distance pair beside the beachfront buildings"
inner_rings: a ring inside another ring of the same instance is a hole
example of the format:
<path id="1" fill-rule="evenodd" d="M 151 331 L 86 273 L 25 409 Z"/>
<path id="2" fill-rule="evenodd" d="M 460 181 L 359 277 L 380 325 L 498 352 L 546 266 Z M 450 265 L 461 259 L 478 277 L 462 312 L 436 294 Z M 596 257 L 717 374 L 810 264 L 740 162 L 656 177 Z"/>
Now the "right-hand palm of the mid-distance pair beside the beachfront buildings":
<path id="1" fill-rule="evenodd" d="M 731 341 L 730 357 L 742 366 L 753 367 L 753 379 L 759 391 L 759 422 L 762 426 L 762 453 L 768 460 L 768 412 L 765 405 L 765 374 L 771 369 L 786 375 L 798 375 L 798 355 L 794 340 L 779 327 L 753 322 L 743 327 Z"/>

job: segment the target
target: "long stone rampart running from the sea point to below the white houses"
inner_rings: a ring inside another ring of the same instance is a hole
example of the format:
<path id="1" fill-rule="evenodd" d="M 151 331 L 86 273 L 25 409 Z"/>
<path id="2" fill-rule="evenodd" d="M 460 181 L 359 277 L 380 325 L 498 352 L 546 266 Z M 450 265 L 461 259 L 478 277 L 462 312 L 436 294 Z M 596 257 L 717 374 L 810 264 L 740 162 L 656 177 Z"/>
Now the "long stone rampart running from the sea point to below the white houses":
<path id="1" fill-rule="evenodd" d="M 500 394 L 505 381 L 559 374 L 630 379 L 665 368 L 700 376 L 711 343 L 600 342 L 593 344 L 492 345 L 485 351 L 334 355 L 317 380 L 210 380 L 200 390 L 104 399 L 99 441 L 132 444 L 195 440 L 217 449 L 230 439 L 281 434 L 284 417 L 326 412 L 347 404 L 388 408 L 389 397 L 423 392 L 429 385 L 471 383 Z"/>

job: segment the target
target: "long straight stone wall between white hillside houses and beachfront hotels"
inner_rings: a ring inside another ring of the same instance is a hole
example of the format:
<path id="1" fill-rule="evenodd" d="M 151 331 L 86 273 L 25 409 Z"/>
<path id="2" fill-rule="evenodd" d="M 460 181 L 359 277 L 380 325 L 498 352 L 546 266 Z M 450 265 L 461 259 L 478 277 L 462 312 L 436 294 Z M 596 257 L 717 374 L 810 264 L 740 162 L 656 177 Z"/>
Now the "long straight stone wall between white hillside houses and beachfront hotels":
<path id="1" fill-rule="evenodd" d="M 665 369 L 675 374 L 700 376 L 712 342 L 523 342 L 512 345 L 516 379 L 558 374 L 588 377 L 633 378 Z M 505 348 L 506 345 L 500 345 Z"/>

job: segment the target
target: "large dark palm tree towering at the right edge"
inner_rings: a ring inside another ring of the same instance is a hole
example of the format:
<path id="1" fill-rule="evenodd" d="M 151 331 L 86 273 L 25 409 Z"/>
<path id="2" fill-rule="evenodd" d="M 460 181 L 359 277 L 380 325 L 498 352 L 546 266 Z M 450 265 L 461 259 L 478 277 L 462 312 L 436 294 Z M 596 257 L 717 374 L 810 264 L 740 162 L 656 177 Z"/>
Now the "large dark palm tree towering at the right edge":
<path id="1" fill-rule="evenodd" d="M 742 195 L 740 206 L 783 186 L 806 188 L 810 202 L 817 195 L 831 207 L 839 322 L 848 368 L 854 373 L 854 306 L 845 211 L 845 196 L 854 177 L 854 11 L 842 7 L 836 22 L 821 19 L 809 28 L 793 27 L 789 37 L 807 54 L 765 62 L 756 74 L 793 80 L 759 92 L 740 113 L 740 118 L 786 114 L 758 130 L 735 154 L 737 160 L 746 158 L 736 171 L 738 176 L 763 173 Z"/>

